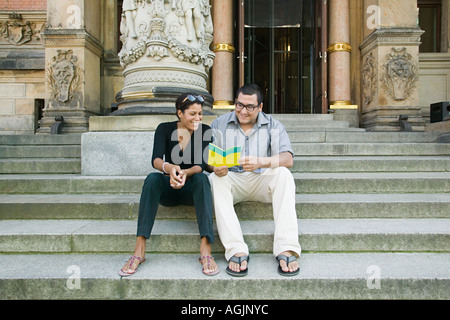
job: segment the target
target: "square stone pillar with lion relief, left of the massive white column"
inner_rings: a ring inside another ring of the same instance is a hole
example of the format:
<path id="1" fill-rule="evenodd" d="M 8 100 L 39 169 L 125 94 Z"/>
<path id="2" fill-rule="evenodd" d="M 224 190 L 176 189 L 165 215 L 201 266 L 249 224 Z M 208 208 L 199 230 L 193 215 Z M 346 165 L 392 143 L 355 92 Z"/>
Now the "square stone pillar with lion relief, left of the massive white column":
<path id="1" fill-rule="evenodd" d="M 50 133 L 61 117 L 61 133 L 85 132 L 89 117 L 100 113 L 100 5 L 47 0 L 46 102 L 38 133 Z"/>

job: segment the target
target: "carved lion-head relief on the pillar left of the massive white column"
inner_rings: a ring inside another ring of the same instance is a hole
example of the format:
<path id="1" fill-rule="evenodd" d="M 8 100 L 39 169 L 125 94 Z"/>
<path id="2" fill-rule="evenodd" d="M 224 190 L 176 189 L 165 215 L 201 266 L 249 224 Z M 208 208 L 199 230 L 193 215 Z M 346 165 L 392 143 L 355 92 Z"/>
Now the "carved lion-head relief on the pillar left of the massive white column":
<path id="1" fill-rule="evenodd" d="M 47 71 L 49 107 L 81 107 L 82 72 L 72 50 L 58 50 Z"/>

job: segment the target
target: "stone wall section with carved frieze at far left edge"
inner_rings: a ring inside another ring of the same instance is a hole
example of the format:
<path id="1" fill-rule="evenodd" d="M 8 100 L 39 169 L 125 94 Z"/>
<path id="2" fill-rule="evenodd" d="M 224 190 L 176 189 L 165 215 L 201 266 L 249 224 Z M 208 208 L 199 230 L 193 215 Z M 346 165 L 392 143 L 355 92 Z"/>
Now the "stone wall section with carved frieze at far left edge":
<path id="1" fill-rule="evenodd" d="M 0 134 L 33 134 L 37 128 L 45 99 L 45 24 L 45 10 L 0 13 Z"/>

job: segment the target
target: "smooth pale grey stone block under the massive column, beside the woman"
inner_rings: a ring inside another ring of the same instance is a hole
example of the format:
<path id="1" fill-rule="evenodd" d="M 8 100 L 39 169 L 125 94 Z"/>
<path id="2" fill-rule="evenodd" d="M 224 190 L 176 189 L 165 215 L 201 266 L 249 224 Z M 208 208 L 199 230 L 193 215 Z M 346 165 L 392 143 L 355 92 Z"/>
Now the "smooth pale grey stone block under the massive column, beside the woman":
<path id="1" fill-rule="evenodd" d="M 216 116 L 203 116 L 210 125 Z M 96 176 L 144 176 L 151 164 L 155 130 L 172 115 L 91 117 L 90 132 L 81 135 L 81 173 Z"/>

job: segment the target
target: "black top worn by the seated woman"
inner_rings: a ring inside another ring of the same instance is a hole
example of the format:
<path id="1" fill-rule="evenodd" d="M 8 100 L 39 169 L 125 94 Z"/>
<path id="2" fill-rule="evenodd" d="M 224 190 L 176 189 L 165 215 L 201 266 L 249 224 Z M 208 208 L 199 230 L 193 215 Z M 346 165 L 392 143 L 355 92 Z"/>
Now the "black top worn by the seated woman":
<path id="1" fill-rule="evenodd" d="M 153 142 L 152 165 L 156 158 L 189 169 L 195 165 L 205 169 L 208 162 L 208 145 L 212 142 L 211 127 L 201 124 L 191 134 L 188 145 L 182 151 L 178 143 L 177 123 L 164 122 L 158 125 Z"/>

